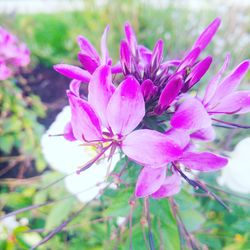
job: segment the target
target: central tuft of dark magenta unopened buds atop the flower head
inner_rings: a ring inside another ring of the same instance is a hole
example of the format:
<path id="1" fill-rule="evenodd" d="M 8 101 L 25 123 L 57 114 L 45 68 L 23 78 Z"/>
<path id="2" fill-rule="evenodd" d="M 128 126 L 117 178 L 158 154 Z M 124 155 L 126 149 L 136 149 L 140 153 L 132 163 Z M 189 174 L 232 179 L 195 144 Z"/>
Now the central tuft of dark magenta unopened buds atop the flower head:
<path id="1" fill-rule="evenodd" d="M 192 88 L 209 69 L 212 57 L 198 60 L 202 50 L 212 40 L 220 25 L 216 18 L 199 36 L 192 49 L 182 60 L 164 61 L 164 43 L 158 40 L 153 51 L 138 45 L 135 33 L 129 23 L 125 24 L 125 40 L 120 45 L 120 61 L 123 74 L 133 75 L 142 85 L 146 103 L 155 115 L 167 110 L 181 93 Z M 147 114 L 146 114 L 147 115 Z"/>

